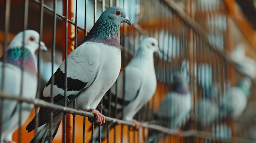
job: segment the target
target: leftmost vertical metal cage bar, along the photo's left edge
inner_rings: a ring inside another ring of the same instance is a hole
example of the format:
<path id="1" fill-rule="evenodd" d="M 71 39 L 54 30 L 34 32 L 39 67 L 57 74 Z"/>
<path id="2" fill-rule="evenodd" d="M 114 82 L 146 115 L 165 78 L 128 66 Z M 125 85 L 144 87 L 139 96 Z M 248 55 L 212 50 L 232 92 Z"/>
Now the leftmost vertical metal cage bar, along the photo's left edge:
<path id="1" fill-rule="evenodd" d="M 5 51 L 8 47 L 8 33 L 9 33 L 9 23 L 10 23 L 10 7 L 11 2 L 10 0 L 5 0 L 5 15 L 4 15 L 4 46 L 2 48 L 2 58 L 3 58 L 3 64 L 2 69 L 4 69 L 6 64 L 6 54 Z M 5 70 L 2 70 L 2 80 L 1 80 L 1 91 L 4 90 L 4 74 Z M 3 110 L 3 98 L 0 97 L 0 129 L 2 129 L 2 110 Z M 2 130 L 0 130 L 0 139 L 2 136 Z"/>

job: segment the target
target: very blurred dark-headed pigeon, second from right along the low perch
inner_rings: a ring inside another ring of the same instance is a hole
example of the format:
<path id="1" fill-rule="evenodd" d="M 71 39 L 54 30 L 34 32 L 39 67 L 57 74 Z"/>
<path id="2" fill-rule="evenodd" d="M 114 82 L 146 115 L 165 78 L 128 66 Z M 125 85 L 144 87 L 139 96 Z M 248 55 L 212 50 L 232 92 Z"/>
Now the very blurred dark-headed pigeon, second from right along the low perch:
<path id="1" fill-rule="evenodd" d="M 202 97 L 195 107 L 195 114 L 202 127 L 212 125 L 219 117 L 219 107 L 217 103 L 220 86 L 213 84 L 206 90 L 205 97 Z"/>

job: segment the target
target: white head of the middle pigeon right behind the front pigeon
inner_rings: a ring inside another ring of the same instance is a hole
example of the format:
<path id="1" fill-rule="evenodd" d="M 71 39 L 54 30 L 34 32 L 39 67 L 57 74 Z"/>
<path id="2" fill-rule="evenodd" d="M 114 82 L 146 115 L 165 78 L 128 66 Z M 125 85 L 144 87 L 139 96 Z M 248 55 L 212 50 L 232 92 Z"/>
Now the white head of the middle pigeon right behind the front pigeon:
<path id="1" fill-rule="evenodd" d="M 152 53 L 159 53 L 158 41 L 153 37 L 145 37 L 139 43 L 139 47 Z"/>

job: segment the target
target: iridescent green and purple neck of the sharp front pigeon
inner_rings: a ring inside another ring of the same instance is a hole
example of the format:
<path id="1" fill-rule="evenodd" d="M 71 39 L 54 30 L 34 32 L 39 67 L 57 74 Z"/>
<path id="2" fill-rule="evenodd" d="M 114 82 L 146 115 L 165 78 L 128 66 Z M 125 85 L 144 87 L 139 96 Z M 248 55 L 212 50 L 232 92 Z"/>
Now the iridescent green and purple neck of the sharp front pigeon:
<path id="1" fill-rule="evenodd" d="M 89 41 L 120 48 L 119 24 L 110 19 L 98 20 L 82 43 Z"/>

